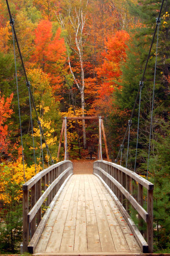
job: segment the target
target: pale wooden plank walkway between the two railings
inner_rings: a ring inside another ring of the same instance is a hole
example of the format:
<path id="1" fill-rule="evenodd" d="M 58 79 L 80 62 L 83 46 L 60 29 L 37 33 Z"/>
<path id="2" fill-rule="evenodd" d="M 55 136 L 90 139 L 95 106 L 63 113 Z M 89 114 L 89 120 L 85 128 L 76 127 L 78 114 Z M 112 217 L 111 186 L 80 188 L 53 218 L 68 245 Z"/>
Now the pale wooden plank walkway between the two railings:
<path id="1" fill-rule="evenodd" d="M 142 253 L 100 180 L 74 174 L 67 182 L 34 253 Z"/>

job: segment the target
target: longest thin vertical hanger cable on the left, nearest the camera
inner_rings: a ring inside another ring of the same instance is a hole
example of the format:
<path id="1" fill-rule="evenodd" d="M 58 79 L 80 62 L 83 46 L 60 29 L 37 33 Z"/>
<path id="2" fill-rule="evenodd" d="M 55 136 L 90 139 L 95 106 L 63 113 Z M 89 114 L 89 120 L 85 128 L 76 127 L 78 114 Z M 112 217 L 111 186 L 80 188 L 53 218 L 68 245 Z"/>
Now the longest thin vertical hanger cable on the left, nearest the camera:
<path id="1" fill-rule="evenodd" d="M 14 26 L 14 19 L 10 20 L 10 25 Z M 20 118 L 20 101 L 19 101 L 19 92 L 18 92 L 18 77 L 17 77 L 17 64 L 16 64 L 16 55 L 15 55 L 15 40 L 14 40 L 14 33 L 13 33 L 13 48 L 14 48 L 14 60 L 15 60 L 15 77 L 16 77 L 16 85 L 17 85 L 17 97 L 18 97 L 18 114 L 20 120 L 20 137 L 21 137 L 21 147 L 22 147 L 22 159 L 23 159 L 23 172 L 24 172 L 24 182 L 25 181 L 25 166 L 24 166 L 24 153 L 23 153 L 23 135 L 22 135 L 22 127 L 21 127 L 21 118 Z"/>

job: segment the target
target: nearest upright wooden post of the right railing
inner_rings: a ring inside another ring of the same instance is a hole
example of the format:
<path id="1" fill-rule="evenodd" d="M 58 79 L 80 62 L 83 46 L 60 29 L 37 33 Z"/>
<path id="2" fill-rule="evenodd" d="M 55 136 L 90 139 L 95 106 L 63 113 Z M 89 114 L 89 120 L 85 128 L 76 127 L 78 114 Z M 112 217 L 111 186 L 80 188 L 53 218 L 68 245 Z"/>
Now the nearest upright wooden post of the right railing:
<path id="1" fill-rule="evenodd" d="M 147 212 L 149 214 L 147 222 L 147 243 L 149 253 L 153 252 L 153 190 L 147 190 Z"/>

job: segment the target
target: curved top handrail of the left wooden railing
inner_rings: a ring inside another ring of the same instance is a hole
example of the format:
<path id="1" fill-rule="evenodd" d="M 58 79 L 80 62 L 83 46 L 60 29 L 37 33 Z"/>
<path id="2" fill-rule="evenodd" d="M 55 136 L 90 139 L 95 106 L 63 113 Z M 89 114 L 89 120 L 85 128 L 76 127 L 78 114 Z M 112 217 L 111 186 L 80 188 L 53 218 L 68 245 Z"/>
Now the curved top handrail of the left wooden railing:
<path id="1" fill-rule="evenodd" d="M 61 166 L 62 164 L 69 162 L 71 164 L 71 167 L 73 168 L 73 163 L 69 160 L 61 161 L 57 164 L 53 164 L 49 166 L 48 168 L 44 169 L 41 172 L 38 172 L 33 178 L 29 179 L 28 182 L 23 184 L 23 190 L 29 190 L 34 184 L 38 182 L 39 179 L 41 179 L 44 175 L 46 175 L 48 172 L 50 172 L 53 168 L 56 168 L 57 166 Z"/>

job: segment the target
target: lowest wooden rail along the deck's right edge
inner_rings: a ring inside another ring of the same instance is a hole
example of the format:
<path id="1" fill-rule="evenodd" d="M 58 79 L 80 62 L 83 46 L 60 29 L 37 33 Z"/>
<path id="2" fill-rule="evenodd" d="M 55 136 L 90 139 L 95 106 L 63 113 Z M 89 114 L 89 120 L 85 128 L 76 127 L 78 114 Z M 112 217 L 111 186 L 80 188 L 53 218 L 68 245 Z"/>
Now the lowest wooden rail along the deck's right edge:
<path id="1" fill-rule="evenodd" d="M 100 179 L 100 181 L 104 184 L 104 187 L 106 187 L 107 191 L 110 193 L 112 196 L 114 202 L 116 205 L 119 207 L 119 210 L 122 212 L 123 217 L 126 219 L 130 229 L 132 230 L 132 233 L 134 234 L 135 238 L 137 239 L 140 247 L 142 248 L 143 253 L 147 253 L 148 251 L 148 244 L 141 235 L 140 231 L 138 230 L 137 226 L 134 224 L 134 222 L 131 220 L 129 214 L 127 211 L 124 209 L 123 205 L 119 202 L 118 198 L 114 195 L 112 190 L 107 186 L 107 184 L 101 179 L 101 177 L 98 174 L 95 174 L 96 177 Z M 110 202 L 109 202 L 110 203 Z"/>

